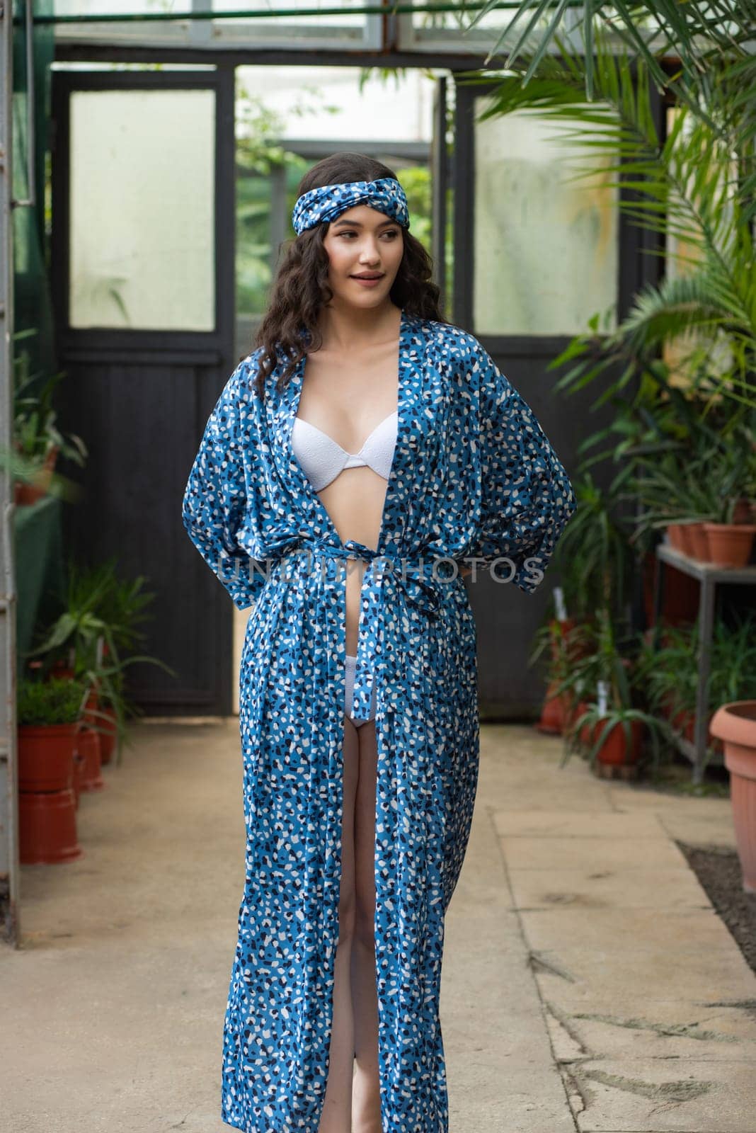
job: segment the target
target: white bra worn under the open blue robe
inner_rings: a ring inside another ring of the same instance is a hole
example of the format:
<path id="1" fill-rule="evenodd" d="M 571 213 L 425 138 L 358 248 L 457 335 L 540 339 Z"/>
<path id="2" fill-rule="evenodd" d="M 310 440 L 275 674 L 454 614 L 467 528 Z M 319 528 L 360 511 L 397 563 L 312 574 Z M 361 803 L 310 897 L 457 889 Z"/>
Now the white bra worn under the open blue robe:
<path id="1" fill-rule="evenodd" d="M 336 479 L 344 468 L 361 468 L 367 465 L 387 480 L 394 461 L 397 427 L 398 411 L 395 409 L 376 425 L 360 451 L 351 453 L 342 449 L 341 444 L 317 425 L 310 425 L 301 417 L 295 417 L 291 444 L 304 475 L 315 491 L 319 492 Z"/>

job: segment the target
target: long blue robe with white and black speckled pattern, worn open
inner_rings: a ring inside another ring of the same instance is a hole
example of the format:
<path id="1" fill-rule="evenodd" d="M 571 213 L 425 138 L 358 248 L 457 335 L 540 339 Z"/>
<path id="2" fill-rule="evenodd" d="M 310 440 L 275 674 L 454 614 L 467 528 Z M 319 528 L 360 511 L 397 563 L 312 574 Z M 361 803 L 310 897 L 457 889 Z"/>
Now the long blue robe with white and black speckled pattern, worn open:
<path id="1" fill-rule="evenodd" d="M 307 359 L 281 393 L 278 372 L 269 375 L 260 399 L 256 358 L 221 393 L 183 500 L 192 543 L 237 606 L 254 607 L 240 673 L 246 883 L 222 1116 L 248 1133 L 317 1133 L 338 939 L 344 566 L 358 553 L 368 565 L 355 717 L 368 715 L 377 682 L 383 1130 L 446 1133 L 444 917 L 479 761 L 475 625 L 452 560 L 480 556 L 486 570 L 506 557 L 498 577 L 514 572 L 516 586 L 534 590 L 574 494 L 531 409 L 478 340 L 402 313 L 398 435 L 378 548 L 342 544 L 291 448 Z"/>

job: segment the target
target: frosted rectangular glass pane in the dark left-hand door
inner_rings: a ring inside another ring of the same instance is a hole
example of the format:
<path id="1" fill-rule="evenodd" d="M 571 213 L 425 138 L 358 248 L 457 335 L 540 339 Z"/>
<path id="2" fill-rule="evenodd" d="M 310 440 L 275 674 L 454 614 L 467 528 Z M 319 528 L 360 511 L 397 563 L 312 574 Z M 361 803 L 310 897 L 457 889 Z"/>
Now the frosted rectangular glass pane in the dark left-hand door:
<path id="1" fill-rule="evenodd" d="M 215 327 L 215 92 L 71 95 L 70 325 Z"/>

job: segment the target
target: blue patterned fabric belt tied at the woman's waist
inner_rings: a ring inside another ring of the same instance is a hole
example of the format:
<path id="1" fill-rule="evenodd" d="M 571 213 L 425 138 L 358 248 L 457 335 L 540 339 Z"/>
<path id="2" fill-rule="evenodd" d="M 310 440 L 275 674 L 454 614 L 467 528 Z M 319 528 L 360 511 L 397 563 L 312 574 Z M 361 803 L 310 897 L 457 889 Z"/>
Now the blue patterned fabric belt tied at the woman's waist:
<path id="1" fill-rule="evenodd" d="M 394 555 L 373 551 L 372 547 L 347 539 L 341 546 L 330 543 L 308 539 L 298 550 L 310 552 L 313 557 L 346 561 L 361 559 L 367 561 L 362 577 L 360 619 L 366 628 L 358 639 L 354 689 L 352 692 L 352 716 L 354 719 L 367 719 L 370 715 L 372 685 L 376 679 L 379 658 L 378 630 L 383 625 L 384 578 L 394 580 L 403 594 L 407 606 L 426 614 L 429 620 L 438 617 L 441 606 L 441 593 L 438 578 L 433 578 L 432 560 L 421 556 L 409 559 L 406 555 Z M 381 569 L 381 565 L 385 569 Z"/>

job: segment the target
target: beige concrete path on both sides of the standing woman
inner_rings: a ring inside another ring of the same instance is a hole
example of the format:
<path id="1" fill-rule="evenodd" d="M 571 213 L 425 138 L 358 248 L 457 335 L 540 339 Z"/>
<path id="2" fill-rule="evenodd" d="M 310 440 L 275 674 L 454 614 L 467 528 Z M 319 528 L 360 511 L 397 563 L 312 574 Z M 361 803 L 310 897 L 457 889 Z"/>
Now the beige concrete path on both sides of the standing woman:
<path id="1" fill-rule="evenodd" d="M 450 1133 L 755 1133 L 756 977 L 672 841 L 732 845 L 729 801 L 599 781 L 560 752 L 482 730 L 444 956 Z M 140 725 L 103 775 L 81 858 L 23 867 L 0 1130 L 221 1133 L 238 721 Z"/>

